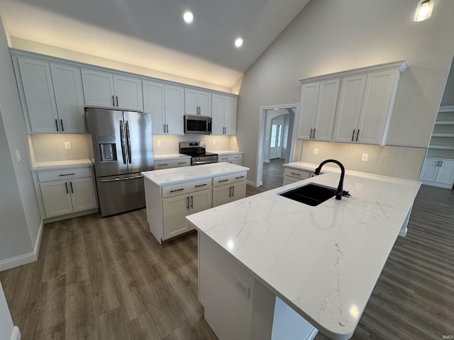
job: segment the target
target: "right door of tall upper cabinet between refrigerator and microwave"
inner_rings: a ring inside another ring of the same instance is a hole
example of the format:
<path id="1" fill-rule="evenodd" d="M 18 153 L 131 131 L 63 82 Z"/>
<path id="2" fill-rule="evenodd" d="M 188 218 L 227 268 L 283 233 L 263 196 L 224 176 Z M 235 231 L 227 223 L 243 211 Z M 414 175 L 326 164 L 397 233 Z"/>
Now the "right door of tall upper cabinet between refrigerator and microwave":
<path id="1" fill-rule="evenodd" d="M 165 124 L 171 135 L 184 135 L 184 88 L 165 85 Z"/>

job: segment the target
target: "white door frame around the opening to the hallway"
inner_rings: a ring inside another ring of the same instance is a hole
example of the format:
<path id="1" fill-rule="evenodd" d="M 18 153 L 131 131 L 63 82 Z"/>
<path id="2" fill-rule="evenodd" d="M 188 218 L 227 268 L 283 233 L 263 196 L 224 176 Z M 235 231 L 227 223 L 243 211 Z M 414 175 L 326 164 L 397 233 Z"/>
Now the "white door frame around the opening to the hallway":
<path id="1" fill-rule="evenodd" d="M 261 186 L 262 183 L 262 174 L 263 174 L 263 142 L 265 140 L 265 129 L 266 129 L 266 111 L 275 110 L 275 109 L 287 109 L 295 108 L 294 118 L 293 118 L 293 130 L 292 130 L 292 143 L 290 145 L 290 152 L 292 159 L 294 158 L 294 134 L 297 128 L 297 117 L 299 113 L 299 103 L 292 104 L 281 104 L 281 105 L 272 105 L 272 106 L 260 106 L 259 111 L 259 120 L 258 120 L 258 139 L 257 139 L 257 158 L 255 160 L 255 183 L 256 187 Z"/>

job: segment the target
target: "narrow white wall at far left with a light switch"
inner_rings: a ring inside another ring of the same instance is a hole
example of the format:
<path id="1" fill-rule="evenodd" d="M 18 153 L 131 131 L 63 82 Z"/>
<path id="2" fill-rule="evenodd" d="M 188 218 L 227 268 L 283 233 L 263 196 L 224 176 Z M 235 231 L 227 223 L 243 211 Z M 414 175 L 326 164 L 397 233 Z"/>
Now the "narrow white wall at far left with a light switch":
<path id="1" fill-rule="evenodd" d="M 35 249 L 41 225 L 13 64 L 0 21 L 0 268 Z M 15 151 L 21 154 L 16 162 Z"/>

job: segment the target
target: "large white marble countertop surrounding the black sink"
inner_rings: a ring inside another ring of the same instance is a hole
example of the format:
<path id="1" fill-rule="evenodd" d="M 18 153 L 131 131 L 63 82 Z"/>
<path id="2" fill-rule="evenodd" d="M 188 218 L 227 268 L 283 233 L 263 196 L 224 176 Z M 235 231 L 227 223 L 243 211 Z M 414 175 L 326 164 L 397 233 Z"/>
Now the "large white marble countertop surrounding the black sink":
<path id="1" fill-rule="evenodd" d="M 338 181 L 328 172 L 187 219 L 323 334 L 349 339 L 421 183 L 350 173 L 351 198 L 311 207 L 278 195 Z"/>

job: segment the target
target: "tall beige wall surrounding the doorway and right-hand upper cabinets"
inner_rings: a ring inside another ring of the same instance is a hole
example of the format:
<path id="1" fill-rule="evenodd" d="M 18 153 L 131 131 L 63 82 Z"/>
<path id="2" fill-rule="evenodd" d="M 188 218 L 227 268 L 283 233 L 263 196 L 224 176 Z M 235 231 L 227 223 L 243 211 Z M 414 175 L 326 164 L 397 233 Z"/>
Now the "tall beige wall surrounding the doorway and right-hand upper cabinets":
<path id="1" fill-rule="evenodd" d="M 255 176 L 260 106 L 298 103 L 299 79 L 407 60 L 387 145 L 428 146 L 454 53 L 454 1 L 436 1 L 413 21 L 414 0 L 316 0 L 299 13 L 243 77 L 238 146 Z M 394 166 L 399 164 L 394 164 Z"/>

